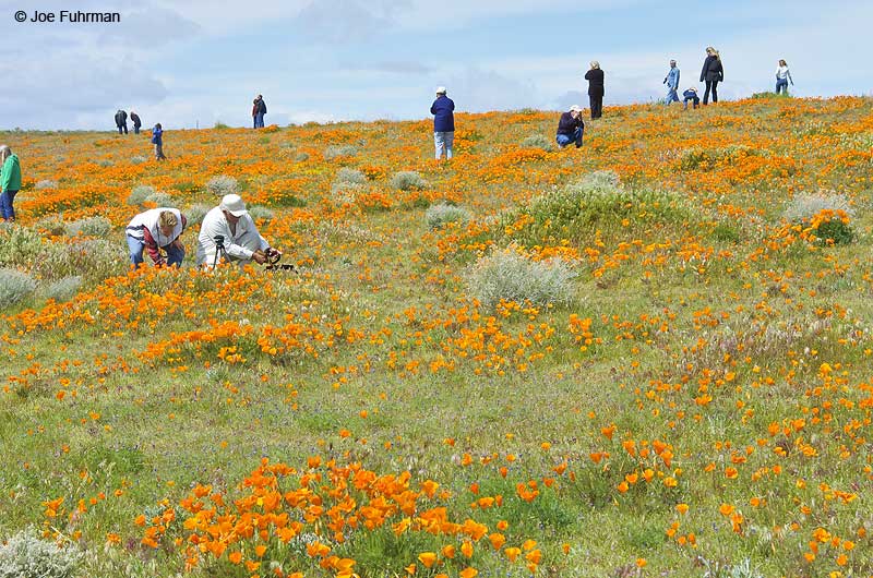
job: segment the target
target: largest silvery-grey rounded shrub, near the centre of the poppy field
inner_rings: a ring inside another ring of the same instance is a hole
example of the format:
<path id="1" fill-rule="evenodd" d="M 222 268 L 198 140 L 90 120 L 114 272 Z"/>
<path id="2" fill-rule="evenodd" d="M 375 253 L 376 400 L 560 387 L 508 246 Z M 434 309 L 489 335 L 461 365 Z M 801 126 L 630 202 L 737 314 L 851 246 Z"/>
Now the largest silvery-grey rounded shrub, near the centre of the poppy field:
<path id="1" fill-rule="evenodd" d="M 565 304 L 573 296 L 574 277 L 565 261 L 533 261 L 511 244 L 479 258 L 467 273 L 467 285 L 470 294 L 486 306 L 501 300 Z"/>

